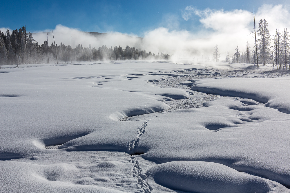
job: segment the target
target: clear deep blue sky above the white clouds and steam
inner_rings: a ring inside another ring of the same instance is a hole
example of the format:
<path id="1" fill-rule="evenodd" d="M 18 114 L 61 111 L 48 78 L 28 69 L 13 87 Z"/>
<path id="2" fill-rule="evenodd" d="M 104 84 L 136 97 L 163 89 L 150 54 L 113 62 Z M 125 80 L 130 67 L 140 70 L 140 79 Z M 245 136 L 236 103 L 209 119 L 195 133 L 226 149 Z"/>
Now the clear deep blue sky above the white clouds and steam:
<path id="1" fill-rule="evenodd" d="M 288 2 L 288 1 L 287 1 Z M 285 4 L 284 0 L 182 0 L 182 1 L 3 1 L 1 0 L 0 27 L 10 29 L 26 25 L 28 31 L 54 29 L 61 24 L 81 31 L 121 32 L 143 36 L 144 32 L 157 27 L 170 30 L 196 31 L 199 18 L 188 21 L 182 19 L 182 10 L 193 6 L 199 10 L 206 8 L 243 9 L 252 11 L 253 6 L 264 3 Z"/>

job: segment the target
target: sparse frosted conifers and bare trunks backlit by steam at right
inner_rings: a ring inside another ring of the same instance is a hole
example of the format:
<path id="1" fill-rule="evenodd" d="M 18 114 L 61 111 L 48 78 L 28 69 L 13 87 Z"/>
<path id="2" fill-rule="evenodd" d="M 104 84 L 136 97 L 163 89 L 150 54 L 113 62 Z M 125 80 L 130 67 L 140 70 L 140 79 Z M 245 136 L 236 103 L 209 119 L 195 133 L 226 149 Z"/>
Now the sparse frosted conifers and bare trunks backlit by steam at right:
<path id="1" fill-rule="evenodd" d="M 227 52 L 224 61 L 227 63 L 253 63 L 254 65 L 259 63 L 262 63 L 263 65 L 271 63 L 273 64 L 273 68 L 276 68 L 277 70 L 287 68 L 290 70 L 290 37 L 287 32 L 287 28 L 284 28 L 282 32 L 276 29 L 275 34 L 273 34 L 271 38 L 267 20 L 260 19 L 258 24 L 258 38 L 255 38 L 255 46 L 250 47 L 250 44 L 246 42 L 244 52 L 240 52 L 239 46 L 237 46 L 235 49 L 235 54 L 229 56 L 229 52 Z M 220 52 L 218 45 L 216 45 L 213 50 L 213 61 L 218 62 L 219 58 Z"/>

